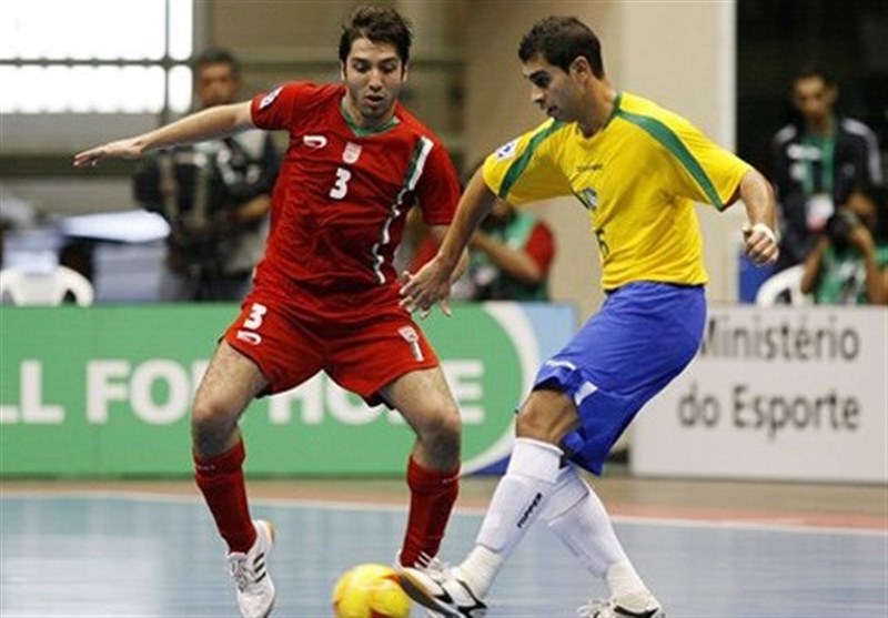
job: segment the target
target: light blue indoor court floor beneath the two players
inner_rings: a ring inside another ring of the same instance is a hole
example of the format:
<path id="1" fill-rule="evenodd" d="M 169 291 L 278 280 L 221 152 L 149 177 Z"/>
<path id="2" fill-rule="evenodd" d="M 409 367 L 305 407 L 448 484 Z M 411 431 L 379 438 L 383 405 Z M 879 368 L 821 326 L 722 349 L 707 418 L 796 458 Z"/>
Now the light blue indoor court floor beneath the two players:
<path id="1" fill-rule="evenodd" d="M 196 496 L 3 490 L 0 498 L 2 618 L 238 617 L 222 541 Z M 259 498 L 252 508 L 278 527 L 270 560 L 278 618 L 332 616 L 339 575 L 391 561 L 405 520 L 401 505 Z M 616 521 L 670 618 L 888 616 L 885 526 L 649 514 Z M 480 523 L 480 508 L 461 508 L 443 557 L 462 557 Z M 488 616 L 572 617 L 603 592 L 537 525 L 497 579 Z"/>

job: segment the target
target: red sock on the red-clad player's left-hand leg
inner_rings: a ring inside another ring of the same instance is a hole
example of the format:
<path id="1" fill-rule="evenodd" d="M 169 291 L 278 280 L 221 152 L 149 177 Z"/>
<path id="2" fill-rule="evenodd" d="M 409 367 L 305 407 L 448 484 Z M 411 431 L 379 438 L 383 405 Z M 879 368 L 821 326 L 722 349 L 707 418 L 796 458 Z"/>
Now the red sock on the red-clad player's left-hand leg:
<path id="1" fill-rule="evenodd" d="M 194 455 L 198 487 L 213 514 L 219 534 L 229 544 L 229 551 L 246 553 L 256 540 L 243 482 L 245 458 L 243 440 L 215 457 L 201 459 Z"/>

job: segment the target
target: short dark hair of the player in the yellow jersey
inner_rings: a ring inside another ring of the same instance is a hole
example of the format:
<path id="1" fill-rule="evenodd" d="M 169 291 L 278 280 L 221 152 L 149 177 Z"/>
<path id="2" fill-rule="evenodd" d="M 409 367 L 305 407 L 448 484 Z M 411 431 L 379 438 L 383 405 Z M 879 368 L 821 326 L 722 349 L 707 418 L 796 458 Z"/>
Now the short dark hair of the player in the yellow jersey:
<path id="1" fill-rule="evenodd" d="M 578 57 L 588 60 L 596 78 L 604 78 L 602 43 L 592 29 L 575 17 L 549 16 L 537 21 L 522 38 L 518 58 L 527 62 L 542 55 L 549 64 L 567 72 Z"/>

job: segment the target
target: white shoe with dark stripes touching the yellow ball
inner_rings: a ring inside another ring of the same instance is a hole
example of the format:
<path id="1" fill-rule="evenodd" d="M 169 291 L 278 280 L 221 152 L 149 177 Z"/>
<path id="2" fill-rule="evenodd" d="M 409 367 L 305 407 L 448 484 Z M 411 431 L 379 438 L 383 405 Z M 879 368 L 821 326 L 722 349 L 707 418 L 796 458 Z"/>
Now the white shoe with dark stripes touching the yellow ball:
<path id="1" fill-rule="evenodd" d="M 437 558 L 422 566 L 398 567 L 397 580 L 410 598 L 432 617 L 483 618 L 487 606 L 452 569 Z"/>

